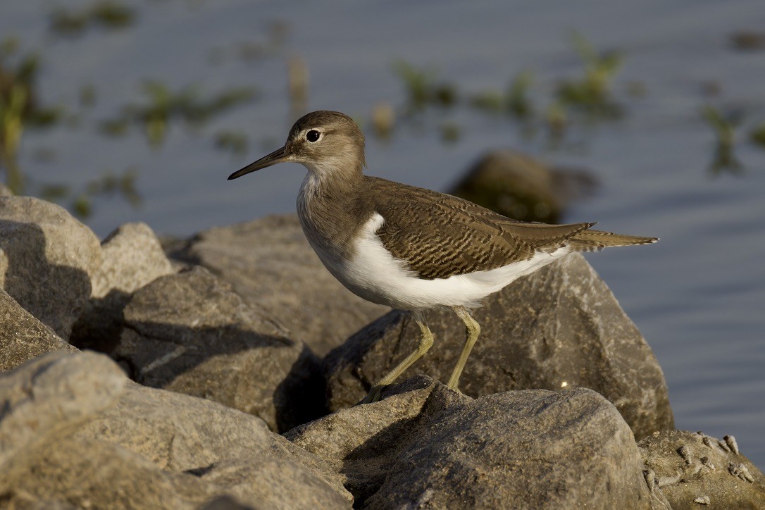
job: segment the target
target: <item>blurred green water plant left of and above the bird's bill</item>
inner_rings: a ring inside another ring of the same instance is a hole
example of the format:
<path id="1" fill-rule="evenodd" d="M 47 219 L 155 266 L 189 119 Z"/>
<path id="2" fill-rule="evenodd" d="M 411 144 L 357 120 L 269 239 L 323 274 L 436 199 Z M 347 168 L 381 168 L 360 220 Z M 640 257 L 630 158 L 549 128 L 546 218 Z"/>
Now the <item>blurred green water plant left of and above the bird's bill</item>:
<path id="1" fill-rule="evenodd" d="M 129 125 L 140 125 L 149 145 L 158 147 L 164 142 L 171 121 L 179 120 L 190 127 L 199 127 L 214 115 L 250 102 L 257 96 L 252 87 L 235 87 L 202 99 L 194 86 L 173 92 L 156 80 L 146 81 L 143 93 L 146 102 L 125 106 L 119 117 L 101 122 L 102 132 L 121 135 Z"/>

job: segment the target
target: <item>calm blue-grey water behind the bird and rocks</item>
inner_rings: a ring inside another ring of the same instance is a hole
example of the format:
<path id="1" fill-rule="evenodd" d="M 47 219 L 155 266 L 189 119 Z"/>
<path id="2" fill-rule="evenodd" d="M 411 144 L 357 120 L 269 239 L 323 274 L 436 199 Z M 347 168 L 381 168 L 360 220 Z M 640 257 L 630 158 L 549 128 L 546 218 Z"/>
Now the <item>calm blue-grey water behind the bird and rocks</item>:
<path id="1" fill-rule="evenodd" d="M 74 5 L 74 4 L 67 4 Z M 77 5 L 86 5 L 77 2 Z M 227 182 L 232 171 L 278 148 L 288 114 L 286 60 L 300 55 L 310 70 L 311 109 L 368 117 L 372 106 L 401 106 L 404 89 L 391 72 L 399 59 L 438 69 L 461 92 L 503 89 L 523 69 L 535 72 L 534 99 L 544 107 L 555 80 L 581 73 L 569 34 L 624 58 L 614 90 L 626 105 L 620 122 L 579 127 L 579 143 L 551 151 L 544 136 L 524 138 L 507 119 L 465 108 L 432 112 L 425 128 L 400 129 L 389 141 L 368 137 L 370 173 L 445 190 L 483 151 L 516 148 L 547 161 L 587 167 L 601 181 L 568 221 L 600 221 L 602 229 L 659 236 L 657 245 L 589 256 L 653 347 L 666 375 L 680 429 L 733 434 L 741 450 L 765 466 L 765 150 L 745 139 L 765 121 L 765 51 L 737 51 L 734 31 L 765 26 L 765 8 L 751 2 L 136 2 L 134 26 L 57 41 L 37 2 L 4 2 L 0 34 L 17 34 L 44 56 L 41 97 L 77 107 L 83 84 L 96 104 L 79 128 L 28 132 L 21 166 L 39 182 L 82 186 L 104 169 L 138 167 L 144 204 L 96 200 L 87 221 L 104 236 L 121 223 L 145 221 L 157 232 L 189 235 L 294 211 L 302 167 L 281 165 Z M 256 60 L 234 57 L 243 41 L 269 41 L 269 26 L 288 28 L 284 46 Z M 211 63 L 218 48 L 224 58 Z M 254 85 L 259 101 L 216 117 L 197 131 L 173 125 L 161 148 L 135 130 L 125 138 L 96 135 L 96 121 L 125 102 L 141 102 L 140 83 L 155 78 L 180 89 L 197 83 L 214 93 Z M 625 93 L 643 84 L 643 97 Z M 706 89 L 719 89 L 708 96 Z M 546 99 L 545 99 L 546 98 Z M 705 104 L 746 112 L 736 156 L 741 174 L 708 170 L 714 135 L 702 122 Z M 453 120 L 461 138 L 441 143 L 438 125 Z M 246 156 L 213 147 L 213 134 L 250 135 Z M 52 162 L 33 157 L 55 151 Z"/>

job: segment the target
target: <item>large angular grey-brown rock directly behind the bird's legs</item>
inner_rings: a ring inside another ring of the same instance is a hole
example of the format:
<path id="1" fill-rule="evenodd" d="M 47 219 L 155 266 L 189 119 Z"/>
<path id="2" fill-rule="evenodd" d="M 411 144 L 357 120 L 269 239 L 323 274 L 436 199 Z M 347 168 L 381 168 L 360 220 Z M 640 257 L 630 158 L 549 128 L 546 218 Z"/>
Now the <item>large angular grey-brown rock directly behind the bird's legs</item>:
<path id="1" fill-rule="evenodd" d="M 664 375 L 635 324 L 581 255 L 568 255 L 487 298 L 482 331 L 462 374 L 465 395 L 512 389 L 591 388 L 617 406 L 636 437 L 673 427 Z M 435 345 L 405 375 L 446 381 L 464 343 L 449 310 L 425 314 Z M 393 311 L 324 359 L 327 406 L 360 401 L 369 386 L 415 348 L 409 313 Z"/>

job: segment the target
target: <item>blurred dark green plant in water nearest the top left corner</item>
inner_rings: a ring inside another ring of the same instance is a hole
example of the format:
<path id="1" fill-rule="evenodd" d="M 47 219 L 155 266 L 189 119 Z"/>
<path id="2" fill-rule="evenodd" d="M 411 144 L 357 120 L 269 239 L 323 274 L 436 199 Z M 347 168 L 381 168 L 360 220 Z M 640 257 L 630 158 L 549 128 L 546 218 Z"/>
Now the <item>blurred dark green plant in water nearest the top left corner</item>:
<path id="1" fill-rule="evenodd" d="M 83 34 L 88 28 L 125 28 L 131 25 L 135 18 L 133 8 L 118 2 L 102 0 L 80 10 L 56 8 L 50 13 L 48 28 L 54 34 L 72 37 Z"/>

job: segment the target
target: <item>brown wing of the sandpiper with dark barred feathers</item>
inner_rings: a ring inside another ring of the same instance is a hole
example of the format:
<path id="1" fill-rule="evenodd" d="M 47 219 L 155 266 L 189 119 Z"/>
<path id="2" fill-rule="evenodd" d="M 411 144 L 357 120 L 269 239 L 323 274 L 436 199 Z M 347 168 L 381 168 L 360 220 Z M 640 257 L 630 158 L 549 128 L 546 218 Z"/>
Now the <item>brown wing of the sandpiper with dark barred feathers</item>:
<path id="1" fill-rule="evenodd" d="M 592 223 L 524 223 L 474 203 L 423 188 L 366 177 L 373 210 L 383 219 L 377 235 L 420 278 L 500 268 L 553 251 Z M 380 200 L 379 197 L 395 197 Z"/>

